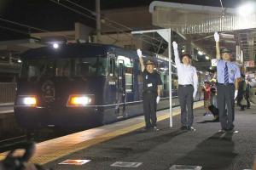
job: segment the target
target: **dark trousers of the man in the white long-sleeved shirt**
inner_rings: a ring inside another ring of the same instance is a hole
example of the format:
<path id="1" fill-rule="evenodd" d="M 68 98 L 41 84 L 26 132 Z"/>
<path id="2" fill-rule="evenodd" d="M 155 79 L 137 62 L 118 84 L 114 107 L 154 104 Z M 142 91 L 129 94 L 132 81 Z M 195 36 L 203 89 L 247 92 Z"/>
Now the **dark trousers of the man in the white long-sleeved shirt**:
<path id="1" fill-rule="evenodd" d="M 191 127 L 194 121 L 193 115 L 193 86 L 178 86 L 177 96 L 181 108 L 181 123 L 182 126 Z"/>

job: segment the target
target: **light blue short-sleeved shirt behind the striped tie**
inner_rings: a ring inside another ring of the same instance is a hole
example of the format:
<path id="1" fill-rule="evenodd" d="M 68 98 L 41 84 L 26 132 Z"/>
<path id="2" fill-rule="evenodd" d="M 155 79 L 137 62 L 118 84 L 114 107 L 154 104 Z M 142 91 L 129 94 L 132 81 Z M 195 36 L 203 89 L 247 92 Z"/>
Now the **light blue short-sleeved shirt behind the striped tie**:
<path id="1" fill-rule="evenodd" d="M 218 83 L 224 83 L 224 68 L 225 63 L 227 63 L 229 71 L 229 83 L 235 83 L 236 78 L 241 77 L 240 70 L 235 63 L 230 61 L 224 61 L 223 59 L 218 59 L 217 61 L 217 79 Z"/>

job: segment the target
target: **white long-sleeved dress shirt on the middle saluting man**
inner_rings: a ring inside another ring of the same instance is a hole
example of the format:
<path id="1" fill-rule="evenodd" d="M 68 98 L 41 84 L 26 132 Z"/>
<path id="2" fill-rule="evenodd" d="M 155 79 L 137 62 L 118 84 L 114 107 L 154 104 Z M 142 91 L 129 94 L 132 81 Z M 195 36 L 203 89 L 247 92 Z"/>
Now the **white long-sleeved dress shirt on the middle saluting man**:
<path id="1" fill-rule="evenodd" d="M 180 85 L 191 84 L 194 87 L 194 94 L 197 92 L 198 77 L 196 69 L 192 65 L 183 65 L 180 61 L 177 49 L 174 49 L 175 64 L 177 67 L 177 82 Z"/>

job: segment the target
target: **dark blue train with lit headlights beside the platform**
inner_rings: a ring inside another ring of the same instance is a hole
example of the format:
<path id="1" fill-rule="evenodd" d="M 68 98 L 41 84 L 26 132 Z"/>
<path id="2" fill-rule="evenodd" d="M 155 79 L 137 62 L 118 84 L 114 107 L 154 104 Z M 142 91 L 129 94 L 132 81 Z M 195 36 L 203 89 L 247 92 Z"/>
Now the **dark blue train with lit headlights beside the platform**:
<path id="1" fill-rule="evenodd" d="M 163 81 L 158 109 L 169 107 L 168 62 L 154 54 Z M 135 50 L 74 43 L 21 55 L 15 116 L 21 127 L 84 127 L 143 114 L 143 77 Z M 172 105 L 177 74 L 172 65 Z"/>

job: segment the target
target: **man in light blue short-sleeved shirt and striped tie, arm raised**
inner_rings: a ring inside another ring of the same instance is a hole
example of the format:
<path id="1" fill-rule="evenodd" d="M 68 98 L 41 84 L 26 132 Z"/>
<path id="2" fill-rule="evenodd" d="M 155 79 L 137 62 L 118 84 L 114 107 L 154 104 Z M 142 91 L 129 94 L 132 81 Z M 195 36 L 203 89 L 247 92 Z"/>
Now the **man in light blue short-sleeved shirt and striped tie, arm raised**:
<path id="1" fill-rule="evenodd" d="M 217 99 L 221 132 L 233 131 L 235 118 L 235 99 L 238 93 L 238 78 L 241 77 L 239 67 L 230 62 L 231 52 L 224 48 L 219 50 L 219 35 L 215 32 L 217 62 Z M 220 56 L 221 55 L 221 56 Z"/>

